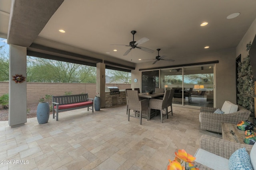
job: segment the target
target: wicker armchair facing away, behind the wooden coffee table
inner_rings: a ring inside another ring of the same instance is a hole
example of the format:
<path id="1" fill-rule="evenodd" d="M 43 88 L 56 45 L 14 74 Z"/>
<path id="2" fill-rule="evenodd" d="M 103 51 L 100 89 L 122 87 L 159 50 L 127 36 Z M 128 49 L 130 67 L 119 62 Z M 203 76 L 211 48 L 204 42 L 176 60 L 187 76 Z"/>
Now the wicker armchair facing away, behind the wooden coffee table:
<path id="1" fill-rule="evenodd" d="M 224 104 L 226 104 L 226 102 L 224 102 Z M 224 104 L 222 108 L 224 107 Z M 222 133 L 221 123 L 237 124 L 241 120 L 245 121 L 248 119 L 251 114 L 251 111 L 244 109 L 239 105 L 237 111 L 228 114 L 214 113 L 216 109 L 217 108 L 214 107 L 200 108 L 199 120 L 201 129 Z"/>

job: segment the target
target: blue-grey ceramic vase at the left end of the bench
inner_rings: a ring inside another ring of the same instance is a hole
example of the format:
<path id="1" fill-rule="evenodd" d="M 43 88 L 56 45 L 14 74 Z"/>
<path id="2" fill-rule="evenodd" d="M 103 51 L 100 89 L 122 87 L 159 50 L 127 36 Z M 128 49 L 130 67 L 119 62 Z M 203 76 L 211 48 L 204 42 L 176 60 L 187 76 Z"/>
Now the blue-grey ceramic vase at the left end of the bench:
<path id="1" fill-rule="evenodd" d="M 47 123 L 50 117 L 50 106 L 48 102 L 40 102 L 37 106 L 36 117 L 39 124 Z"/>

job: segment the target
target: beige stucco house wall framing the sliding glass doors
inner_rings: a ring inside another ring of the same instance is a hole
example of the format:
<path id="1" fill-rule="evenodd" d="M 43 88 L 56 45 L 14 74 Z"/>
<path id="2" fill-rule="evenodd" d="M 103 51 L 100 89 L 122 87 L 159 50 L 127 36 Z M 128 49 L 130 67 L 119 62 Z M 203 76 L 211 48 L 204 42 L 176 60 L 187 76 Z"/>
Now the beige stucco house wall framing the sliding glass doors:
<path id="1" fill-rule="evenodd" d="M 131 88 L 141 87 L 141 77 L 139 69 L 150 68 L 150 67 L 161 67 L 189 64 L 189 63 L 201 63 L 208 61 L 216 61 L 219 63 L 215 64 L 216 68 L 216 107 L 222 107 L 225 100 L 236 103 L 236 49 L 224 49 L 220 51 L 209 51 L 200 54 L 186 55 L 179 57 L 172 57 L 175 60 L 174 63 L 158 62 L 152 66 L 152 63 L 137 64 L 136 69 L 132 70 L 132 84 Z M 134 78 L 138 79 L 138 82 L 134 82 Z"/>

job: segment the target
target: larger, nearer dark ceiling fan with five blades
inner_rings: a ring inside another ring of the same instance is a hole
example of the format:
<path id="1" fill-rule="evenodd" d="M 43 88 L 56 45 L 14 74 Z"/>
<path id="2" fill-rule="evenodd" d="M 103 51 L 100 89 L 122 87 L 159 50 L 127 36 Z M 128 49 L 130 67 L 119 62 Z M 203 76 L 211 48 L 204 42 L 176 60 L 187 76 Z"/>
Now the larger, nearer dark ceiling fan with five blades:
<path id="1" fill-rule="evenodd" d="M 142 43 L 145 43 L 145 42 L 148 41 L 149 39 L 146 38 L 146 37 L 143 37 L 142 39 L 139 39 L 138 41 L 134 41 L 134 34 L 135 34 L 136 32 L 137 32 L 137 31 L 131 31 L 131 33 L 132 33 L 132 35 L 133 35 L 133 41 L 130 42 L 130 45 L 125 45 L 125 46 L 131 47 L 131 48 L 128 49 L 128 50 L 124 53 L 124 55 L 128 55 L 128 53 L 129 53 L 132 49 L 135 49 L 135 48 L 138 48 L 138 49 L 140 49 L 140 50 L 142 50 L 142 51 L 146 51 L 146 52 L 148 52 L 148 53 L 153 53 L 154 50 L 152 50 L 152 49 L 148 49 L 148 48 L 146 48 L 146 47 L 138 46 L 138 45 L 140 45 L 140 44 L 142 44 Z"/>

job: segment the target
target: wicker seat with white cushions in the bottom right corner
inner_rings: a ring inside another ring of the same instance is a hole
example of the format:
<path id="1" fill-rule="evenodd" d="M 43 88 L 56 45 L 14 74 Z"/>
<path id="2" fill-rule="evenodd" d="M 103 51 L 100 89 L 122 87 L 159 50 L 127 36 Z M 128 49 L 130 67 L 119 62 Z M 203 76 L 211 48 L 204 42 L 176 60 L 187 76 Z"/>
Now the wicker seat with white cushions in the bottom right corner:
<path id="1" fill-rule="evenodd" d="M 256 170 L 256 145 L 246 145 L 202 135 L 200 148 L 196 151 L 197 168 L 200 170 L 229 170 L 229 158 L 238 149 L 245 148 L 250 155 L 252 168 Z"/>

